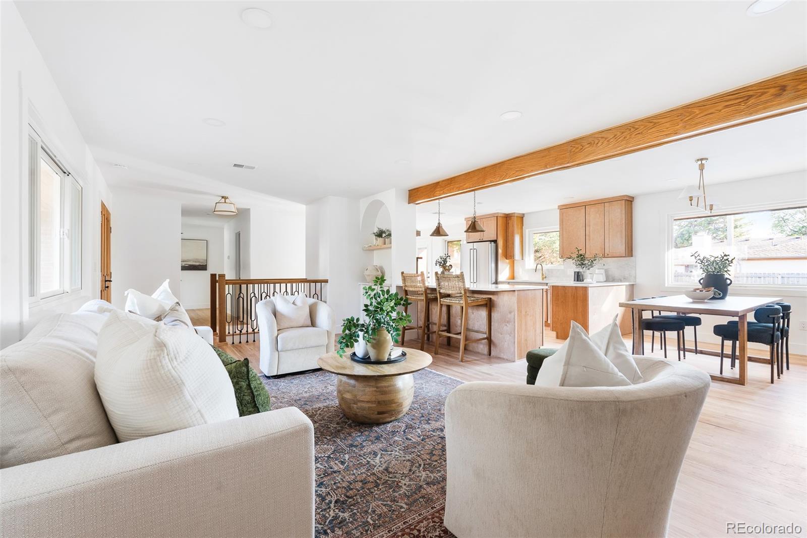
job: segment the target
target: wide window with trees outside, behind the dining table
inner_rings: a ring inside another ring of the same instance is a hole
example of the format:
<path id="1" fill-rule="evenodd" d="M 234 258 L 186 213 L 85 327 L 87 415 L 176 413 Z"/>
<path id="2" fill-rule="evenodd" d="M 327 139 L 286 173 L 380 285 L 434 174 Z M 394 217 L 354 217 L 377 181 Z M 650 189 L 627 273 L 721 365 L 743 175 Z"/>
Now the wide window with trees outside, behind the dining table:
<path id="1" fill-rule="evenodd" d="M 700 279 L 694 252 L 725 252 L 734 284 L 807 286 L 807 207 L 681 217 L 671 233 L 671 284 Z"/>

